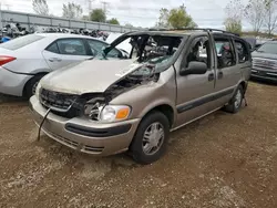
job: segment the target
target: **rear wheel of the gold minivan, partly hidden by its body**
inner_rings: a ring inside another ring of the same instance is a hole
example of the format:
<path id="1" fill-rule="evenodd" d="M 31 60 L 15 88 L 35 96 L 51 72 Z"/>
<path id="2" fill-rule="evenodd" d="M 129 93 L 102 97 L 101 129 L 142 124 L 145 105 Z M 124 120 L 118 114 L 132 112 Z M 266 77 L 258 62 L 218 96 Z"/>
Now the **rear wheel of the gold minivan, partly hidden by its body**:
<path id="1" fill-rule="evenodd" d="M 244 89 L 242 85 L 239 85 L 233 98 L 229 101 L 228 105 L 224 107 L 224 111 L 228 113 L 234 113 L 234 114 L 237 113 L 242 107 L 244 94 L 245 94 Z"/>

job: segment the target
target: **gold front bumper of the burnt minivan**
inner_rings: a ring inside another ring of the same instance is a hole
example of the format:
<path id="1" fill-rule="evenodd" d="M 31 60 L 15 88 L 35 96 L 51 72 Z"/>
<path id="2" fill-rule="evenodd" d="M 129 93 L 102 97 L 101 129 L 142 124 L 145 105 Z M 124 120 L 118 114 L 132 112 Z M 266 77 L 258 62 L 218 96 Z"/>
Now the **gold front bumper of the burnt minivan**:
<path id="1" fill-rule="evenodd" d="M 47 113 L 35 96 L 30 98 L 30 108 L 39 126 Z M 50 113 L 42 131 L 54 141 L 80 152 L 107 156 L 127 150 L 140 119 L 99 124 L 88 118 L 72 119 Z"/>

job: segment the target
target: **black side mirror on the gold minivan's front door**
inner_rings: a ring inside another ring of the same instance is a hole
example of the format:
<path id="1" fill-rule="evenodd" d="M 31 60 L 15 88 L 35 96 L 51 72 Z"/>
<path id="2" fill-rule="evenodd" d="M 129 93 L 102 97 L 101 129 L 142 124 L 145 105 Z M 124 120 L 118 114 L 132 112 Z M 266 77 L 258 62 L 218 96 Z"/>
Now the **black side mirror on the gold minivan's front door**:
<path id="1" fill-rule="evenodd" d="M 205 74 L 207 72 L 207 64 L 204 62 L 192 61 L 188 63 L 188 67 L 183 67 L 179 71 L 179 75 L 185 76 L 188 74 Z"/>

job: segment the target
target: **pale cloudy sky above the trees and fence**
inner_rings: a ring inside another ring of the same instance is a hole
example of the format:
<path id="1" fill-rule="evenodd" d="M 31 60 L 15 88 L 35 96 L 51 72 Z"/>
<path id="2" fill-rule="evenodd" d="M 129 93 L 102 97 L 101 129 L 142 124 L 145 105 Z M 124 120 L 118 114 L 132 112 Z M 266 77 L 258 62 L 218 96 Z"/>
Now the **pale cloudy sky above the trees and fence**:
<path id="1" fill-rule="evenodd" d="M 84 14 L 89 12 L 89 1 L 92 9 L 104 8 L 106 2 L 107 18 L 116 18 L 121 24 L 131 23 L 135 27 L 154 27 L 161 8 L 177 8 L 183 4 L 198 27 L 224 29 L 224 8 L 229 0 L 47 0 L 50 13 L 62 15 L 62 4 L 79 3 Z M 247 0 L 243 0 L 245 3 Z M 32 0 L 0 0 L 3 10 L 33 13 Z M 247 22 L 243 22 L 247 28 Z"/>

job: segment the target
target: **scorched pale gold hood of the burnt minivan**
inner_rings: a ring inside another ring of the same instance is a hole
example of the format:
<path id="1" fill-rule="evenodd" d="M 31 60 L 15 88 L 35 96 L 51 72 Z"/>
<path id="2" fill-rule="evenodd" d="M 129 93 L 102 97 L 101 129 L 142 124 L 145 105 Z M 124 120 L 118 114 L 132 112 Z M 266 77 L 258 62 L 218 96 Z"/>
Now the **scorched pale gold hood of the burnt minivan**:
<path id="1" fill-rule="evenodd" d="M 44 89 L 62 93 L 103 93 L 141 65 L 133 60 L 84 61 L 45 75 L 40 83 Z"/>

